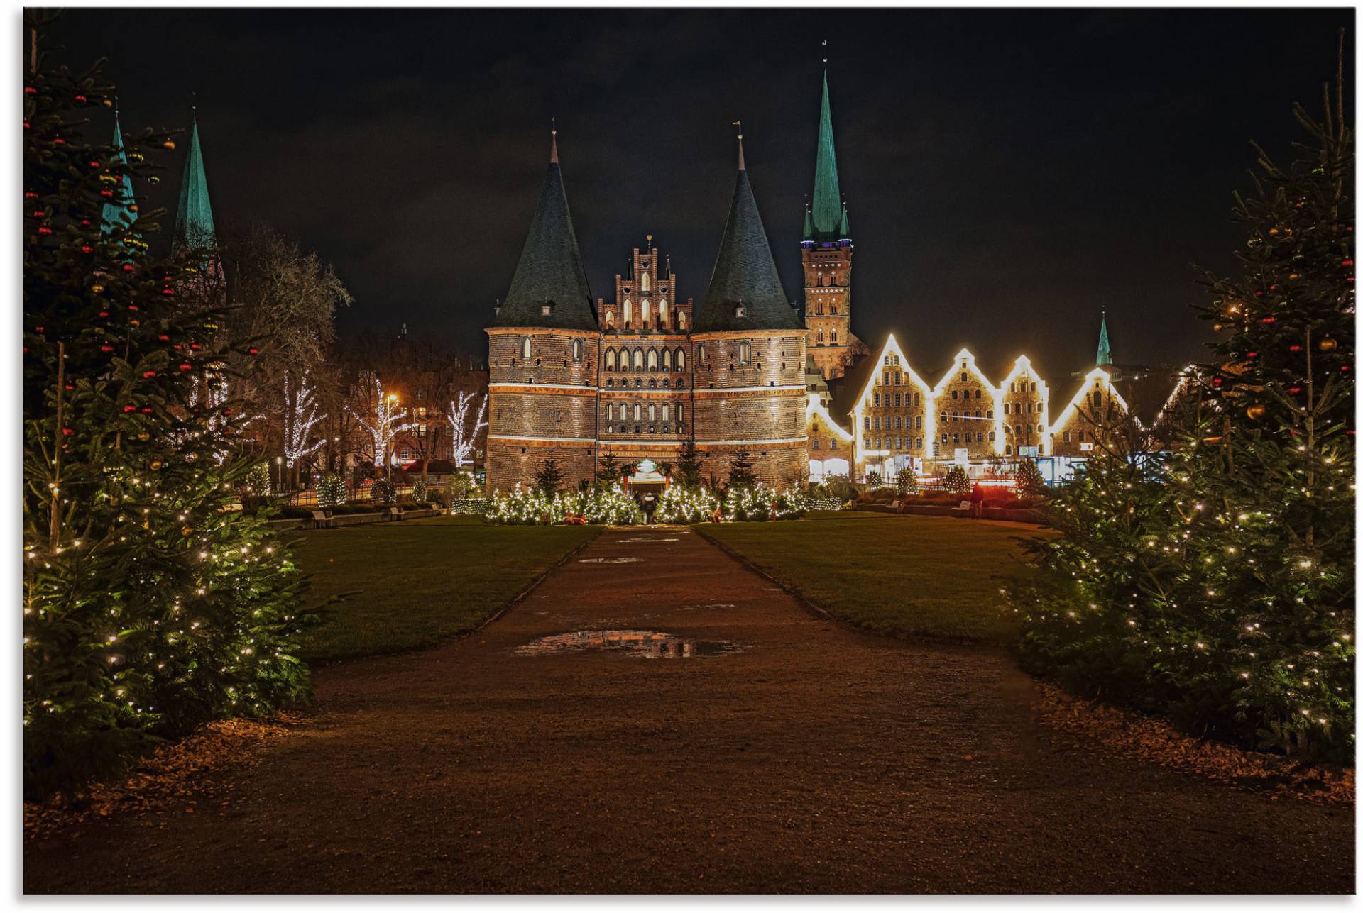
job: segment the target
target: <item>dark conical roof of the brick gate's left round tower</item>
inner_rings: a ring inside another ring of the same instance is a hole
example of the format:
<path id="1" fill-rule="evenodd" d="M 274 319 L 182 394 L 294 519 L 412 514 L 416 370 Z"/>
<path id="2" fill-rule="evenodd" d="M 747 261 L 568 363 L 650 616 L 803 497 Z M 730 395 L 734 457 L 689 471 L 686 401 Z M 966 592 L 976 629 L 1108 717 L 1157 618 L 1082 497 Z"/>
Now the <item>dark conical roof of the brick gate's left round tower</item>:
<path id="1" fill-rule="evenodd" d="M 549 305 L 549 313 L 544 307 Z M 596 330 L 592 289 L 582 268 L 578 236 L 572 230 L 568 196 L 563 189 L 559 168 L 557 136 L 544 176 L 540 204 L 530 221 L 530 232 L 521 251 L 521 262 L 511 277 L 511 289 L 493 327 L 555 327 L 560 330 Z"/>

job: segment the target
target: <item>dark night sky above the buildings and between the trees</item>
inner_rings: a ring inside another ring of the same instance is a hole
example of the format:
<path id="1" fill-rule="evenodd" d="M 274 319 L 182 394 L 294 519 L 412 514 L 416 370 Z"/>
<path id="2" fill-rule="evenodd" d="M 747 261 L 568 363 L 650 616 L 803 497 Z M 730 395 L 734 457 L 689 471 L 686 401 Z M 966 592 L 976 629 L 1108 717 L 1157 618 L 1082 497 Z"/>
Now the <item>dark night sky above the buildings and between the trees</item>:
<path id="1" fill-rule="evenodd" d="M 705 294 L 733 128 L 791 298 L 819 48 L 856 238 L 853 330 L 931 377 L 962 345 L 1092 364 L 1199 356 L 1191 263 L 1234 267 L 1249 140 L 1284 154 L 1352 10 L 71 10 L 49 48 L 106 55 L 125 129 L 198 91 L 219 226 L 263 219 L 354 293 L 342 332 L 408 322 L 481 350 L 559 120 L 594 296 L 628 248 Z M 1352 60 L 1352 41 L 1349 42 Z M 1347 74 L 1352 87 L 1352 67 Z M 1351 105 L 1352 110 L 1352 105 Z M 101 121 L 99 128 L 104 128 Z M 183 149 L 183 146 L 181 146 Z M 173 204 L 180 159 L 153 203 Z M 169 225 L 169 219 L 166 221 Z"/>

